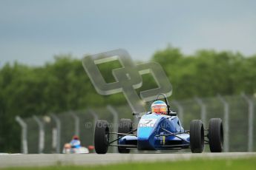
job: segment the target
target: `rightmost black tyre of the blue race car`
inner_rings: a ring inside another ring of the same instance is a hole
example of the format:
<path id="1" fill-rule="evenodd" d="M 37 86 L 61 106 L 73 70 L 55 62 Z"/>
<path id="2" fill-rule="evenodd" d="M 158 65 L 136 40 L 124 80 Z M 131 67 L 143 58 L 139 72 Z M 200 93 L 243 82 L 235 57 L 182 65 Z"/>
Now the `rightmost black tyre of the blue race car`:
<path id="1" fill-rule="evenodd" d="M 223 150 L 223 124 L 220 118 L 209 120 L 209 146 L 211 152 L 222 152 Z"/>

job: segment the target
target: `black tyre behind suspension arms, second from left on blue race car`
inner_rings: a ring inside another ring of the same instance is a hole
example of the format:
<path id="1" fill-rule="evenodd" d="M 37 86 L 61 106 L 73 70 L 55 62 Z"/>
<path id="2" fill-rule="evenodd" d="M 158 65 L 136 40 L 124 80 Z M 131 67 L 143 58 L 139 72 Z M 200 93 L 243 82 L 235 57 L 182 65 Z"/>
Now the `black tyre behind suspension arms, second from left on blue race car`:
<path id="1" fill-rule="evenodd" d="M 120 119 L 118 133 L 127 134 L 128 132 L 131 132 L 131 131 L 132 131 L 131 119 Z M 123 135 L 118 135 L 118 137 L 121 137 L 121 136 Z M 118 140 L 118 144 L 119 144 L 119 140 Z M 124 146 L 118 146 L 118 152 L 121 154 L 127 154 L 127 153 L 130 153 L 130 149 L 126 149 Z"/>

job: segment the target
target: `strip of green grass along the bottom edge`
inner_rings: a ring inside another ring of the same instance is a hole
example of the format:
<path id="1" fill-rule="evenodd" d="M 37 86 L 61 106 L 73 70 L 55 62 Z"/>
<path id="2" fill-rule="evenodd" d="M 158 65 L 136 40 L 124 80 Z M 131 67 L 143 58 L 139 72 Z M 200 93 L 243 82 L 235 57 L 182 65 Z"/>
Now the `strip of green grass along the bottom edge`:
<path id="1" fill-rule="evenodd" d="M 50 166 L 50 167 L 33 167 L 33 168 L 7 168 L 18 170 L 165 170 L 165 169 L 256 169 L 256 157 L 240 158 L 240 159 L 197 159 L 174 162 L 158 162 L 158 163 L 119 163 L 105 166 Z"/>

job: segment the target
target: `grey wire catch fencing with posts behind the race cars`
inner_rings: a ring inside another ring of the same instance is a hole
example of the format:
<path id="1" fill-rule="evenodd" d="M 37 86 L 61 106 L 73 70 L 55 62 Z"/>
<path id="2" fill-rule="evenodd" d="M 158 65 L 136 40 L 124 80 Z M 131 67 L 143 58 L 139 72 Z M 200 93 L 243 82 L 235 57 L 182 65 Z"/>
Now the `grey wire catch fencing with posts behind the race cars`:
<path id="1" fill-rule="evenodd" d="M 221 118 L 224 129 L 224 152 L 256 151 L 254 95 L 217 95 L 214 98 L 170 101 L 171 109 L 177 111 L 184 129 L 189 129 L 190 121 L 193 119 L 202 120 L 207 129 L 210 118 Z M 150 106 L 150 103 L 147 105 Z M 59 114 L 34 115 L 31 118 L 18 116 L 17 123 L 22 127 L 21 152 L 61 153 L 62 147 L 70 142 L 73 135 L 79 135 L 82 146 L 93 146 L 96 120 L 108 120 L 108 123 L 111 123 L 110 130 L 116 132 L 120 118 L 133 119 L 129 106 L 108 105 L 103 108 Z M 116 147 L 111 147 L 109 152 L 117 152 Z M 208 147 L 205 152 L 209 152 Z"/>

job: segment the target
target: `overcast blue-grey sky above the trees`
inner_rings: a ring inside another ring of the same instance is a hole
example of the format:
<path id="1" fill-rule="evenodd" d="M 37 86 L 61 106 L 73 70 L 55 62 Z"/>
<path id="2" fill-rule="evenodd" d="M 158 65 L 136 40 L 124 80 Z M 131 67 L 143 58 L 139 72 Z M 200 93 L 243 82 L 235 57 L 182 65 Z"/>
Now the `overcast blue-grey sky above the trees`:
<path id="1" fill-rule="evenodd" d="M 123 48 L 148 60 L 172 44 L 256 53 L 256 1 L 0 0 L 0 67 Z"/>

